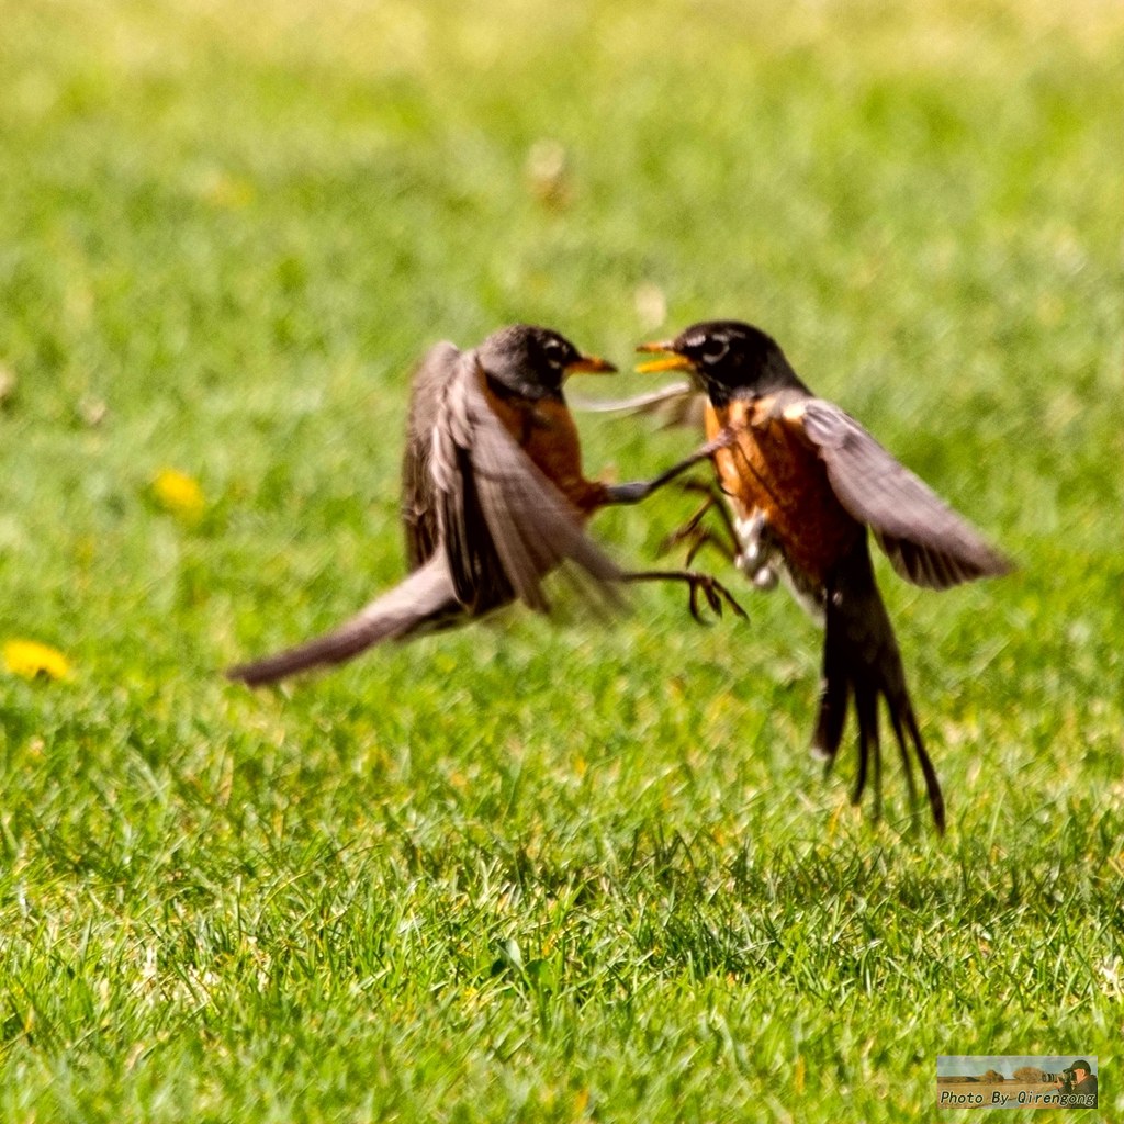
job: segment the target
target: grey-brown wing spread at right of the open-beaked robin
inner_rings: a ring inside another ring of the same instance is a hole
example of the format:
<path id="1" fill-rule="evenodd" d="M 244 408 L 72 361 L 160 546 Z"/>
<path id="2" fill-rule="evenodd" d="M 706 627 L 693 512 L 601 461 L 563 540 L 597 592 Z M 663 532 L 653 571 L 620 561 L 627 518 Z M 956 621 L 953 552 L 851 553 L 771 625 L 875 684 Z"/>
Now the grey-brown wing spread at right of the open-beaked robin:
<path id="1" fill-rule="evenodd" d="M 807 398 L 783 417 L 816 446 L 840 502 L 870 525 L 907 581 L 948 589 L 1012 570 L 1009 560 L 837 406 Z"/>

